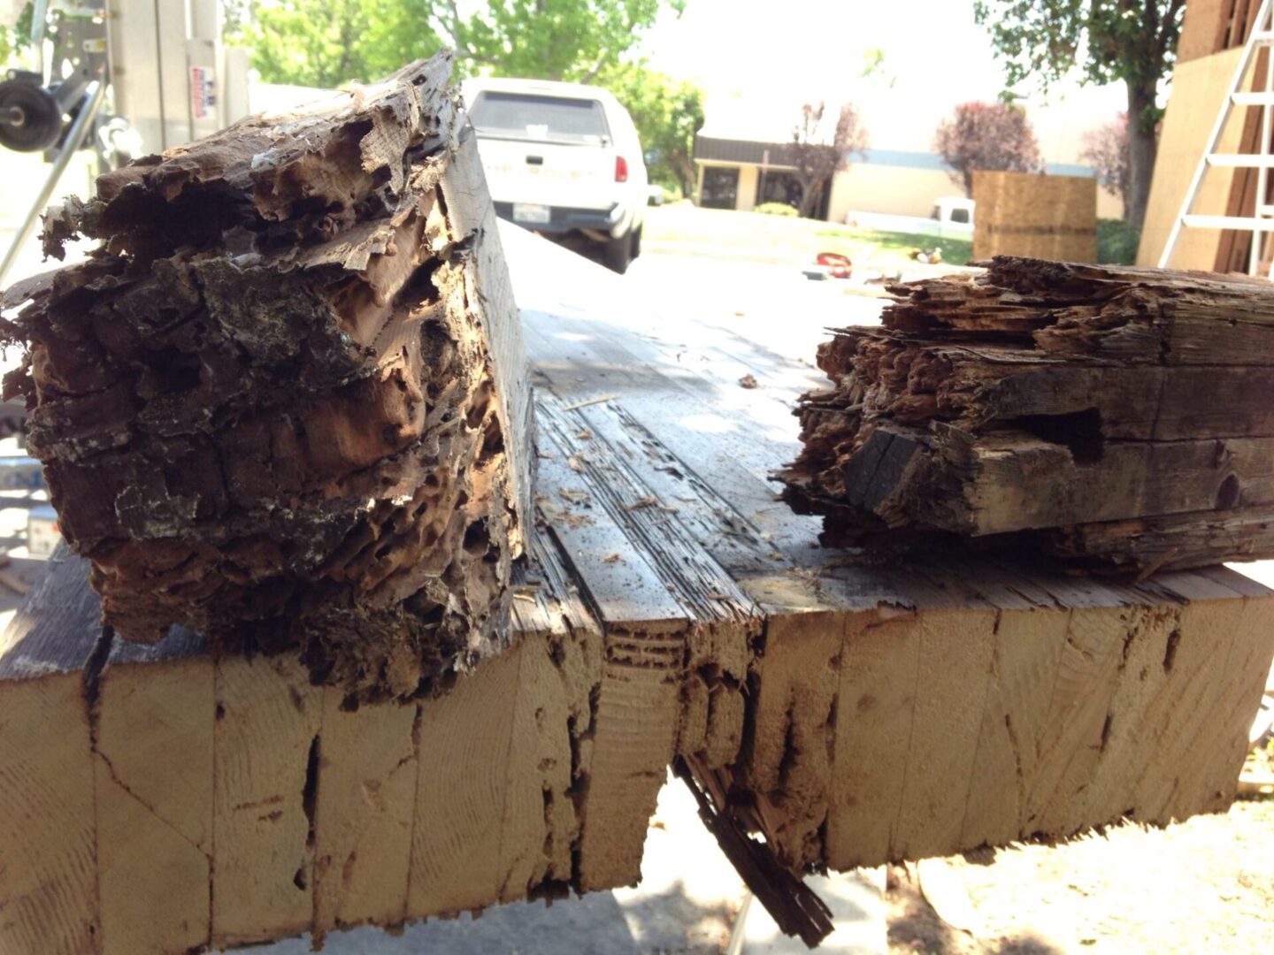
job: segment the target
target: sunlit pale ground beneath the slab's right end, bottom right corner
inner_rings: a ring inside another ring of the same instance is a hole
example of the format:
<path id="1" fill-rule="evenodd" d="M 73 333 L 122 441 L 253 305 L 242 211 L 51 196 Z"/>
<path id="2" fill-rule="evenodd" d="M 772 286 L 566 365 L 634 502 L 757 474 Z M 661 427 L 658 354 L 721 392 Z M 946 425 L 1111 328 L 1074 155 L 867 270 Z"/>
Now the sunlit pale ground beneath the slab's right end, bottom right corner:
<path id="1" fill-rule="evenodd" d="M 994 858 L 994 861 L 991 861 Z M 1274 938 L 1274 800 L 1147 830 L 947 861 L 980 926 L 958 931 L 907 868 L 889 871 L 889 951 L 1263 952 Z"/>

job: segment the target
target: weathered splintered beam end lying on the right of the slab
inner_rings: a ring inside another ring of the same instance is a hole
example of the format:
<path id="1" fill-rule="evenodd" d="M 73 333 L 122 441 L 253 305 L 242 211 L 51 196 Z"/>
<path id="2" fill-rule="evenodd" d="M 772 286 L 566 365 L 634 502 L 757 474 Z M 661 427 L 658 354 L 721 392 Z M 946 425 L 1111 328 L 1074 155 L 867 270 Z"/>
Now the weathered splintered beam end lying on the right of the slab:
<path id="1" fill-rule="evenodd" d="M 1000 257 L 819 348 L 785 498 L 829 545 L 1274 556 L 1274 286 Z"/>

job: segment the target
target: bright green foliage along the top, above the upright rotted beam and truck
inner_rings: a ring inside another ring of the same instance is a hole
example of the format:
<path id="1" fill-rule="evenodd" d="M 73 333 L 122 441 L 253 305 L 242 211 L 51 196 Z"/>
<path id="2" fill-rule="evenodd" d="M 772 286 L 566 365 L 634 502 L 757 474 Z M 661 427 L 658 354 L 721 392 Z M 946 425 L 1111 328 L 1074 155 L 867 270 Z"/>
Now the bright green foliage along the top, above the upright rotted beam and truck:
<path id="1" fill-rule="evenodd" d="M 372 80 L 442 47 L 461 75 L 592 81 L 618 66 L 661 10 L 685 0 L 236 0 L 231 39 L 268 83 Z M 236 29 L 236 23 L 242 24 Z"/>

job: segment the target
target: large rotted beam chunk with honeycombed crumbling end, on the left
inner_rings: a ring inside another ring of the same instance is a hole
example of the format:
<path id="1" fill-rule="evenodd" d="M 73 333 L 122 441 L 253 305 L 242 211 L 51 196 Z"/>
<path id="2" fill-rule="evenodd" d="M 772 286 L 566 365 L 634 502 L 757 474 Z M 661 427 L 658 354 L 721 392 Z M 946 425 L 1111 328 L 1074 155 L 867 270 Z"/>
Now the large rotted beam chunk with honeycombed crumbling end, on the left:
<path id="1" fill-rule="evenodd" d="M 507 642 L 526 369 L 450 70 L 245 120 L 46 216 L 52 255 L 103 244 L 8 293 L 5 395 L 125 638 L 298 646 L 357 699 Z"/>

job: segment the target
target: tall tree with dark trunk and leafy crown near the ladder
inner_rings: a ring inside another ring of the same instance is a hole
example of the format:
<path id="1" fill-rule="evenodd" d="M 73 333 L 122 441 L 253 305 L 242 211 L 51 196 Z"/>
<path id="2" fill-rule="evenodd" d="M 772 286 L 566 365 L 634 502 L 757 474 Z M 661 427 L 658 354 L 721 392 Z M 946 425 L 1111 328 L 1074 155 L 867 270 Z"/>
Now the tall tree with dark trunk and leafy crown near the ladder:
<path id="1" fill-rule="evenodd" d="M 1156 93 L 1172 70 L 1185 0 L 975 0 L 1009 85 L 1045 85 L 1080 67 L 1085 81 L 1127 87 L 1127 219 L 1140 225 L 1150 194 L 1159 110 Z"/>

